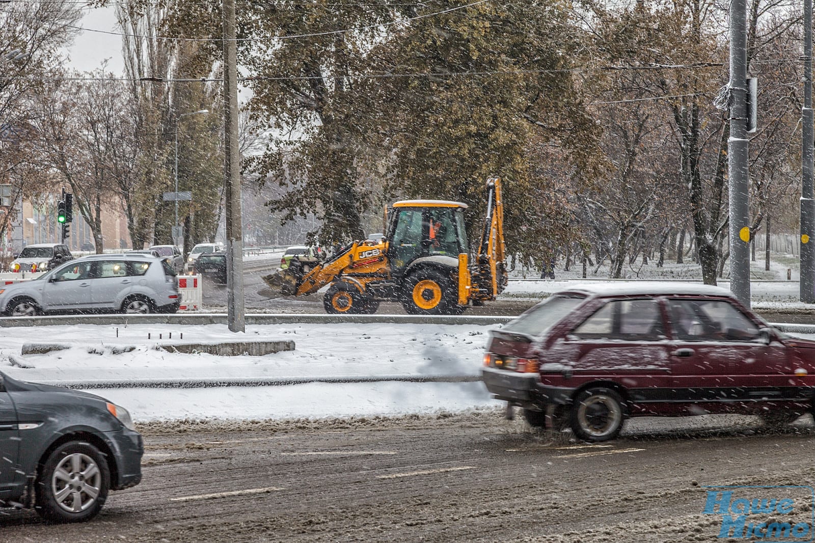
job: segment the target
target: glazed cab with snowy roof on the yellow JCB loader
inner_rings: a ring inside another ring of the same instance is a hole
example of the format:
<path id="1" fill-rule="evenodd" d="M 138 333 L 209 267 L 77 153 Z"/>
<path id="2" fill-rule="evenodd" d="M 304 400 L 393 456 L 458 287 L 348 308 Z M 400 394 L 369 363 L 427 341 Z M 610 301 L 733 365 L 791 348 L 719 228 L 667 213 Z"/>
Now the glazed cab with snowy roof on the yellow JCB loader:
<path id="1" fill-rule="evenodd" d="M 399 274 L 416 258 L 467 253 L 466 204 L 456 201 L 398 201 L 390 210 L 387 239 L 391 272 Z"/>

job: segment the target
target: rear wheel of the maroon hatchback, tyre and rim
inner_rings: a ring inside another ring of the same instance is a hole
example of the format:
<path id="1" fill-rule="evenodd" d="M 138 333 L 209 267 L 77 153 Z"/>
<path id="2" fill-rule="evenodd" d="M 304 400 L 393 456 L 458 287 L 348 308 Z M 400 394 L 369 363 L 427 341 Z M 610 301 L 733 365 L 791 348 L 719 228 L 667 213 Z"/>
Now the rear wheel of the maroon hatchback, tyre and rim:
<path id="1" fill-rule="evenodd" d="M 580 391 L 571 406 L 571 430 L 584 441 L 597 443 L 615 439 L 623 429 L 624 420 L 623 399 L 605 386 Z"/>

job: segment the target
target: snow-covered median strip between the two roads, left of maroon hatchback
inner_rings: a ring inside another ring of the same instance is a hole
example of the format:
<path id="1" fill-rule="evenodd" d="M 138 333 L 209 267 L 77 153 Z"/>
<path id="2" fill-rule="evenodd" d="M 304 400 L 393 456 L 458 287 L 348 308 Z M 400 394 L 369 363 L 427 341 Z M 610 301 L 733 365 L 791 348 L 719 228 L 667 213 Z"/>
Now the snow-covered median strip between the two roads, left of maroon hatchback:
<path id="1" fill-rule="evenodd" d="M 478 382 L 493 327 L 290 324 L 249 326 L 237 335 L 220 324 L 24 327 L 0 329 L 0 356 L 11 377 L 87 389 L 141 421 L 425 413 L 497 404 Z M 160 347 L 170 333 L 174 343 L 183 333 L 185 342 L 293 340 L 295 349 L 170 352 Z M 20 355 L 31 342 L 62 348 Z"/>

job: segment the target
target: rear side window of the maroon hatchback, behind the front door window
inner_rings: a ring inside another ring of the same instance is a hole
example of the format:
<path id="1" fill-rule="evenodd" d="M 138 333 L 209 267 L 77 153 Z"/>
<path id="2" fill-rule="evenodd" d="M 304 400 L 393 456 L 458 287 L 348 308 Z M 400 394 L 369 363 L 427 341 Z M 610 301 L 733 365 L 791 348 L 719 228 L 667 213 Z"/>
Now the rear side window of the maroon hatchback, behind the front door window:
<path id="1" fill-rule="evenodd" d="M 655 341 L 665 338 L 659 302 L 654 299 L 612 300 L 571 333 L 580 339 Z"/>

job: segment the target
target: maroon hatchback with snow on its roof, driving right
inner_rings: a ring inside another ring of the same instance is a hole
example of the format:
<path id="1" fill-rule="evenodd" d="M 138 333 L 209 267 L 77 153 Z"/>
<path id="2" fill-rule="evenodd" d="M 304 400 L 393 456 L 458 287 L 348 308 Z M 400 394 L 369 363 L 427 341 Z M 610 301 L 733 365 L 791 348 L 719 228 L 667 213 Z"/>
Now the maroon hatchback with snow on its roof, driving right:
<path id="1" fill-rule="evenodd" d="M 813 409 L 815 342 L 790 338 L 728 290 L 681 283 L 578 285 L 493 330 L 483 380 L 532 426 L 605 441 L 628 417 Z"/>

